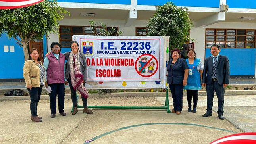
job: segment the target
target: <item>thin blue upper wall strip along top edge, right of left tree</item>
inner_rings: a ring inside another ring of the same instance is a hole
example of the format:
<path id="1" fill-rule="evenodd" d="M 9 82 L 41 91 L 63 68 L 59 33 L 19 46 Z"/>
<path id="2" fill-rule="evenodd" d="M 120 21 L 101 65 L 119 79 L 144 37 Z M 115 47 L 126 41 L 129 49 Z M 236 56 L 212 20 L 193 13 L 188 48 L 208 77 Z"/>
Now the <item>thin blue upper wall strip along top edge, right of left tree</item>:
<path id="1" fill-rule="evenodd" d="M 79 2 L 95 4 L 131 4 L 131 0 L 58 0 L 58 2 Z"/>

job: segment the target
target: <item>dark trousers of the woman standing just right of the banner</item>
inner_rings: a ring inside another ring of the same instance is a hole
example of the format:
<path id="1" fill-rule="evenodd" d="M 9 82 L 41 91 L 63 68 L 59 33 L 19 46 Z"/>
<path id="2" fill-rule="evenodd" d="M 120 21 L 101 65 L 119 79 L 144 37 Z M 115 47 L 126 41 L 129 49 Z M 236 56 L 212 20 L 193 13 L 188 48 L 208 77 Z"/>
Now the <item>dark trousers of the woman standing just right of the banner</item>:
<path id="1" fill-rule="evenodd" d="M 182 95 L 183 88 L 182 84 L 169 84 L 171 89 L 171 97 L 173 99 L 173 109 L 177 111 L 182 111 Z"/>

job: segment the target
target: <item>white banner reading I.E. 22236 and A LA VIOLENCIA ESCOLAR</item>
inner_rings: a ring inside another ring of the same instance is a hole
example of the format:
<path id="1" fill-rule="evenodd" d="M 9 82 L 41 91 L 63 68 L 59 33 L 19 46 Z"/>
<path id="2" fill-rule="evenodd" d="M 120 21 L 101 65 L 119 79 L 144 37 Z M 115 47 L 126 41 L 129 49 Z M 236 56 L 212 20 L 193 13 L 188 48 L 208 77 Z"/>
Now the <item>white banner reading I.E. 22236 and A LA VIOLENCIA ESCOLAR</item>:
<path id="1" fill-rule="evenodd" d="M 151 84 L 150 88 L 166 87 L 168 36 L 73 35 L 73 40 L 79 43 L 81 52 L 87 58 L 87 83 L 92 87 L 107 84 L 105 88 L 118 88 L 115 86 L 117 82 L 126 88 L 137 88 L 138 85 L 134 85 L 136 82 L 143 88 L 149 82 L 157 84 L 154 87 Z M 128 86 L 129 82 L 133 86 Z"/>

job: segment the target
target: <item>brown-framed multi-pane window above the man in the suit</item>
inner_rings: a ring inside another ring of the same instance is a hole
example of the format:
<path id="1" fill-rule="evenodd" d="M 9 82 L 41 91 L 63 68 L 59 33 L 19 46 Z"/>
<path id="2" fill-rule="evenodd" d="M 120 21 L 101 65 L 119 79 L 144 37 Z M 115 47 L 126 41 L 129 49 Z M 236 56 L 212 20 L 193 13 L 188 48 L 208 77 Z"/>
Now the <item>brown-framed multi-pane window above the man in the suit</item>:
<path id="1" fill-rule="evenodd" d="M 255 48 L 255 29 L 206 29 L 205 48 Z"/>

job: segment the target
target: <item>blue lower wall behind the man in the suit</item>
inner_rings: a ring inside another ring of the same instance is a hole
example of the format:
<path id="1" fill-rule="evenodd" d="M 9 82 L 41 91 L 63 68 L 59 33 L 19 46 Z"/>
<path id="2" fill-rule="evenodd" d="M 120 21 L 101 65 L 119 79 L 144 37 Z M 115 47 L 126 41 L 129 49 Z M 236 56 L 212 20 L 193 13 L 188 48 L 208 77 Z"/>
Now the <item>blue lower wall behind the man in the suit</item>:
<path id="1" fill-rule="evenodd" d="M 222 48 L 220 53 L 229 58 L 230 75 L 255 75 L 255 48 Z M 210 48 L 205 51 L 205 56 L 211 56 Z"/>

